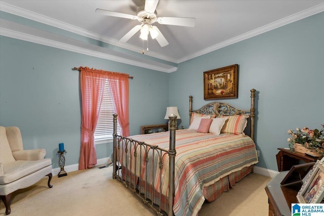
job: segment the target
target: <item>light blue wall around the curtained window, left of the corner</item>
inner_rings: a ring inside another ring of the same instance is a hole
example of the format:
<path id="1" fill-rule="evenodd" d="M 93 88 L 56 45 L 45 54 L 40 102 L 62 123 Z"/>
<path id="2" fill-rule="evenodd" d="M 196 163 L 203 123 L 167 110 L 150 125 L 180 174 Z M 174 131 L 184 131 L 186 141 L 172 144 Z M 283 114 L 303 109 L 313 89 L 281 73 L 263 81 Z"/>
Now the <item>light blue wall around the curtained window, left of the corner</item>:
<path id="1" fill-rule="evenodd" d="M 56 153 L 62 142 L 68 152 L 65 165 L 78 163 L 81 114 L 75 66 L 134 76 L 130 79 L 131 135 L 140 133 L 140 125 L 165 123 L 168 73 L 5 36 L 0 37 L 0 47 L 0 124 L 18 126 L 24 148 L 45 148 L 53 167 L 58 167 Z M 112 144 L 96 145 L 96 150 L 98 159 L 107 157 Z"/>

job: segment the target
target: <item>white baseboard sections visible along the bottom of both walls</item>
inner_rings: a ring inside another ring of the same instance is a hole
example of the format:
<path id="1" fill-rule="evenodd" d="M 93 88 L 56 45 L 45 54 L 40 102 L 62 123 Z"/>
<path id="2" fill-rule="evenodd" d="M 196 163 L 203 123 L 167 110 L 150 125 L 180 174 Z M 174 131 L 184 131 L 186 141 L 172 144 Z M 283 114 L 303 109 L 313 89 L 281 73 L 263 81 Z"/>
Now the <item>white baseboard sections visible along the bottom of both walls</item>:
<path id="1" fill-rule="evenodd" d="M 105 157 L 105 158 L 100 158 L 97 160 L 97 165 L 100 165 L 100 164 L 106 164 L 107 163 L 107 160 L 108 160 L 108 157 Z M 79 168 L 79 164 L 76 163 L 76 164 L 72 164 L 72 165 L 68 165 L 68 166 L 64 166 L 64 170 L 68 173 L 68 172 L 71 172 L 71 171 L 76 171 L 78 170 Z M 61 168 L 54 168 L 52 169 L 52 174 L 53 176 L 56 176 L 59 174 Z M 267 177 L 271 177 L 273 178 L 278 172 L 277 171 L 274 171 L 274 170 L 271 170 L 271 169 L 266 169 L 266 168 L 262 168 L 262 167 L 259 167 L 259 166 L 254 166 L 254 172 L 256 174 L 260 174 L 262 176 L 267 176 Z"/>

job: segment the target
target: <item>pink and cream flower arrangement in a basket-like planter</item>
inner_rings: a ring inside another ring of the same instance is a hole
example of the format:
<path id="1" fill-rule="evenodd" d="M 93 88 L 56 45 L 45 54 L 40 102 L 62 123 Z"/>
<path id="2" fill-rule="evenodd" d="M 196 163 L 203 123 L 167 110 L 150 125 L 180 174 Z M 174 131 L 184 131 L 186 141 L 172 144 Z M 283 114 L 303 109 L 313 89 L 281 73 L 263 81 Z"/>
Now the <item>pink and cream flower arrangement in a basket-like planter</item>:
<path id="1" fill-rule="evenodd" d="M 291 129 L 288 130 L 288 134 L 292 137 L 288 138 L 289 148 L 293 149 L 295 143 L 301 144 L 303 147 L 311 150 L 319 151 L 321 148 L 324 148 L 324 124 L 321 124 L 322 128 L 319 129 L 309 129 L 308 127 L 303 127 L 302 129 L 296 128 L 296 133 Z"/>

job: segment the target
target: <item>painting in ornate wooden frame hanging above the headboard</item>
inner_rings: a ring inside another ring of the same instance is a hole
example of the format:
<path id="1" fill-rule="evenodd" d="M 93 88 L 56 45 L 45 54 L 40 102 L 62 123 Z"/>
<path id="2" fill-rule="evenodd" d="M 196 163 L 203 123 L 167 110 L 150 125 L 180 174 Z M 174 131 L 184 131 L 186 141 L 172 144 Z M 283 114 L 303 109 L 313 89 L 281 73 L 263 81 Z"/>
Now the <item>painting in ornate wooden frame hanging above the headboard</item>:
<path id="1" fill-rule="evenodd" d="M 204 99 L 237 98 L 237 64 L 204 72 Z"/>

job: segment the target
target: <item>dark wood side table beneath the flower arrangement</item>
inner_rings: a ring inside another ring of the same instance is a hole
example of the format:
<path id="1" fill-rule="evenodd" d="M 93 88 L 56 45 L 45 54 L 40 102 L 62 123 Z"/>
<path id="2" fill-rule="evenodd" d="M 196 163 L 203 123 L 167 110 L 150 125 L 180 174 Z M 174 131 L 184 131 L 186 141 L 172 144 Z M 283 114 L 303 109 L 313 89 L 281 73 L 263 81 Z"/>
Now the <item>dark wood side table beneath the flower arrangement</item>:
<path id="1" fill-rule="evenodd" d="M 303 160 L 306 163 L 316 162 L 321 157 L 311 157 L 300 152 L 292 152 L 289 149 L 278 148 L 279 152 L 276 155 L 278 171 L 290 170 L 293 165 L 299 164 L 299 160 Z"/>

